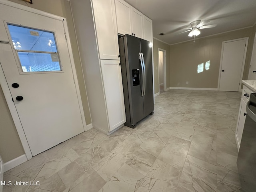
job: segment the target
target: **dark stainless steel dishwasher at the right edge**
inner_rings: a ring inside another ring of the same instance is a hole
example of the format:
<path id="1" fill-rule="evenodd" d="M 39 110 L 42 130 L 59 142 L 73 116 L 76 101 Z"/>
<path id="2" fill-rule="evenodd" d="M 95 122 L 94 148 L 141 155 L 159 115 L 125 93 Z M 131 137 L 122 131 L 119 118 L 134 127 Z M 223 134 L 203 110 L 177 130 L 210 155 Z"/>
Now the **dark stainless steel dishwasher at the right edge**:
<path id="1" fill-rule="evenodd" d="M 237 167 L 244 192 L 256 191 L 256 93 L 246 105 L 244 131 L 237 158 Z"/>

